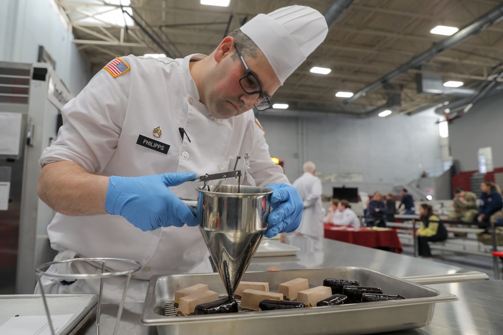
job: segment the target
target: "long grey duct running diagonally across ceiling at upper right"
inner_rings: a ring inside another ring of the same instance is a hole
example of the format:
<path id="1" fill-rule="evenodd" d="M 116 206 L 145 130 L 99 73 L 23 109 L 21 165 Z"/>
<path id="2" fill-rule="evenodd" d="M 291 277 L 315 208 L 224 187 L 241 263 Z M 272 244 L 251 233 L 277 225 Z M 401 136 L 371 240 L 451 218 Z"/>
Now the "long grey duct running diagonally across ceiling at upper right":
<path id="1" fill-rule="evenodd" d="M 368 92 L 381 87 L 384 83 L 388 82 L 389 80 L 407 72 L 409 69 L 416 67 L 418 65 L 423 64 L 424 62 L 434 58 L 436 55 L 440 54 L 441 52 L 454 47 L 455 45 L 463 42 L 467 38 L 480 33 L 483 31 L 485 28 L 488 26 L 494 24 L 495 22 L 501 20 L 503 18 L 503 5 L 499 5 L 496 8 L 492 9 L 488 13 L 484 14 L 474 22 L 470 23 L 468 26 L 465 28 L 461 29 L 457 33 L 455 33 L 452 36 L 449 36 L 448 38 L 440 41 L 436 45 L 434 45 L 432 48 L 428 49 L 427 51 L 423 52 L 422 54 L 414 57 L 411 59 L 409 62 L 403 64 L 402 66 L 398 67 L 397 69 L 391 71 L 390 73 L 386 74 L 385 76 L 379 78 L 375 82 L 371 83 L 367 87 L 361 89 L 360 91 L 356 92 L 355 95 L 352 97 L 346 99 L 344 101 L 345 104 L 353 102 L 362 96 L 365 96 Z"/>

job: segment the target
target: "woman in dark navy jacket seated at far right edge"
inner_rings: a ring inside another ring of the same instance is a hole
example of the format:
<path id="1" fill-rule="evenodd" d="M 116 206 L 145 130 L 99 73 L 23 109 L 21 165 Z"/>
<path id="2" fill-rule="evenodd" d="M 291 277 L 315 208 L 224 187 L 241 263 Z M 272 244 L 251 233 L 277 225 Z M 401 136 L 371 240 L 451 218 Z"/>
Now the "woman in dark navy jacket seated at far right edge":
<path id="1" fill-rule="evenodd" d="M 480 228 L 490 227 L 489 222 L 497 222 L 503 216 L 503 199 L 501 199 L 501 189 L 492 181 L 484 181 L 480 184 L 480 207 L 478 210 L 478 226 Z"/>

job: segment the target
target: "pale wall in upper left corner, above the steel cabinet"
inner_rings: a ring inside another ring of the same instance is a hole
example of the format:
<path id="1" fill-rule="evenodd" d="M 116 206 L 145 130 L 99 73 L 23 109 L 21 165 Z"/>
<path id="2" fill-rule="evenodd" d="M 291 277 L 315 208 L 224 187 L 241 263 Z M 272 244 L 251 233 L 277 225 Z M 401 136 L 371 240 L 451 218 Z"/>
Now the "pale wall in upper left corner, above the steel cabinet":
<path id="1" fill-rule="evenodd" d="M 73 94 L 91 79 L 90 67 L 53 0 L 0 0 L 0 60 L 33 63 L 42 45 L 56 61 L 56 72 Z"/>

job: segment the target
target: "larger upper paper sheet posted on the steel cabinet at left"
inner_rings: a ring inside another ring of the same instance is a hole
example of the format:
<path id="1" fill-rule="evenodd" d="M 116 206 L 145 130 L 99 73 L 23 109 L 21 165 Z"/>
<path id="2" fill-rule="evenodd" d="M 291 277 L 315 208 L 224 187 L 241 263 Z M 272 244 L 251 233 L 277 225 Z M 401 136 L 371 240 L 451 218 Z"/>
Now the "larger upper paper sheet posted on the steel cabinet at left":
<path id="1" fill-rule="evenodd" d="M 19 155 L 23 114 L 0 113 L 0 155 Z"/>

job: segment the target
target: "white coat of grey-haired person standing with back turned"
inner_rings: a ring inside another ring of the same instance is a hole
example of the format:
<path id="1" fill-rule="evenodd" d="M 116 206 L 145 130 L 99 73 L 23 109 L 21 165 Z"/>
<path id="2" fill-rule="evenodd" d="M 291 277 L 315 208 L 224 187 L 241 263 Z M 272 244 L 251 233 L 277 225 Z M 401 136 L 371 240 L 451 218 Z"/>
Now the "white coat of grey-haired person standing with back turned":
<path id="1" fill-rule="evenodd" d="M 292 186 L 297 189 L 304 202 L 302 221 L 296 232 L 322 238 L 324 231 L 321 180 L 312 173 L 304 172 L 292 183 Z"/>

